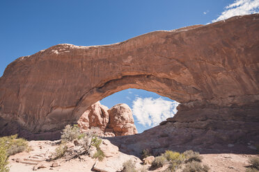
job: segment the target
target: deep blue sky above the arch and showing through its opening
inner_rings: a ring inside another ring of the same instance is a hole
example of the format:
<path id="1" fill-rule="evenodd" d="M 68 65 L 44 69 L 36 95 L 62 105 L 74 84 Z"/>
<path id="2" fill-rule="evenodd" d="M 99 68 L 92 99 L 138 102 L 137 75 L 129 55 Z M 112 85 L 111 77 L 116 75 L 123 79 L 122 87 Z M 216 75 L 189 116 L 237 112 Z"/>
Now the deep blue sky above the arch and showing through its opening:
<path id="1" fill-rule="evenodd" d="M 258 7 L 259 0 L 1 0 L 0 76 L 16 58 L 55 44 L 112 44 L 150 31 L 259 12 Z M 126 92 L 120 93 L 123 98 Z M 136 89 L 132 92 L 140 94 Z M 143 92 L 142 96 L 154 95 Z"/>

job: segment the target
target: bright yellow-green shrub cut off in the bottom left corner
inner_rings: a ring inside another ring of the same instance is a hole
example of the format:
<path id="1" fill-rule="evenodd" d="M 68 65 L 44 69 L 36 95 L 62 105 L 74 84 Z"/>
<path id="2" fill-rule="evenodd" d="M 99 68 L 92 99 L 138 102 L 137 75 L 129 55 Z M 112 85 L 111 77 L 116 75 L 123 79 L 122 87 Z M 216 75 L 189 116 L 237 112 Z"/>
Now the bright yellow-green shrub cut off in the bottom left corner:
<path id="1" fill-rule="evenodd" d="M 8 172 L 8 153 L 6 144 L 0 140 L 0 172 Z"/>

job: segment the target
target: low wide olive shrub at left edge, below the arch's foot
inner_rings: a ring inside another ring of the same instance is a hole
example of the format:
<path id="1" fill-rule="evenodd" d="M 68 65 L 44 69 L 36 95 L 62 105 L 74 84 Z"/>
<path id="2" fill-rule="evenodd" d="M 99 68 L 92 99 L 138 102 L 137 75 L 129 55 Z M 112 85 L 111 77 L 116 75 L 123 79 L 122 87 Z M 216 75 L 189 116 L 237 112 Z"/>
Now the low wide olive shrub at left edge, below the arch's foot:
<path id="1" fill-rule="evenodd" d="M 26 139 L 17 138 L 17 135 L 1 137 L 0 141 L 6 146 L 8 156 L 29 150 L 28 141 L 26 141 Z"/>

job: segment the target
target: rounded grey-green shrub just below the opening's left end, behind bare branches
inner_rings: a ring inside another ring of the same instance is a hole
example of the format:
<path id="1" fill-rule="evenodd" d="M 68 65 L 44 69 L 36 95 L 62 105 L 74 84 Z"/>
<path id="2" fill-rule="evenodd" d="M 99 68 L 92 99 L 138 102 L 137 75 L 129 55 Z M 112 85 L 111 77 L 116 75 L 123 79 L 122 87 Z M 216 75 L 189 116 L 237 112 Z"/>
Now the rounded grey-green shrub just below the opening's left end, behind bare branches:
<path id="1" fill-rule="evenodd" d="M 84 134 L 82 135 L 80 133 L 80 129 L 77 125 L 74 125 L 74 126 L 67 125 L 63 129 L 63 132 L 61 132 L 61 140 L 65 142 L 72 141 L 80 137 L 84 137 Z"/>

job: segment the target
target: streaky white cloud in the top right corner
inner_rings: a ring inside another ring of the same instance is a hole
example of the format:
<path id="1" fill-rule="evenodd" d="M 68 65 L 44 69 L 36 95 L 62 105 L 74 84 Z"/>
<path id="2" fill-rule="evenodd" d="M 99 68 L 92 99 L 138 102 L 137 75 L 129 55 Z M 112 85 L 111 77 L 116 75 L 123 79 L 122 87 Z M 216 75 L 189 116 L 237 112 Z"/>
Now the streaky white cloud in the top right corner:
<path id="1" fill-rule="evenodd" d="M 218 22 L 236 15 L 249 15 L 258 12 L 259 0 L 236 0 L 234 3 L 226 6 L 221 15 L 217 19 L 212 20 L 212 22 Z"/>

